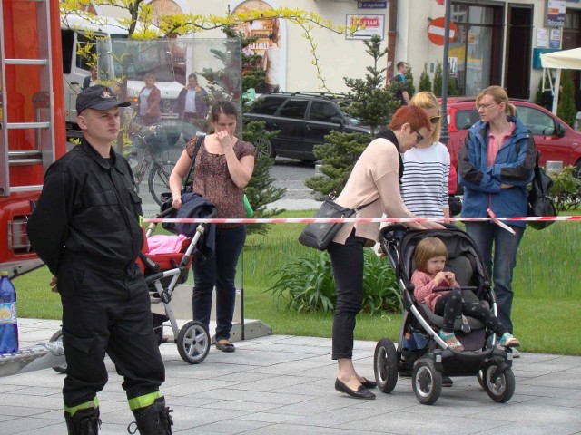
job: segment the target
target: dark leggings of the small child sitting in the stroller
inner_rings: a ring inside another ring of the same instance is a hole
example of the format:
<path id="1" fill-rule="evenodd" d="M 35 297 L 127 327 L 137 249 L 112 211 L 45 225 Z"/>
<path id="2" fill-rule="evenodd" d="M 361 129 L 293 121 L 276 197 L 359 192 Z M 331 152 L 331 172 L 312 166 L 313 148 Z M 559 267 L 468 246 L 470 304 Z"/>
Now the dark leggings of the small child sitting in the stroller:
<path id="1" fill-rule="evenodd" d="M 463 302 L 462 291 L 458 288 L 451 290 L 436 301 L 434 314 L 444 317 L 442 330 L 447 333 L 454 331 L 454 321 L 458 314 L 469 315 L 470 317 L 481 320 L 500 337 L 508 332 L 507 328 L 500 323 L 497 317 L 490 313 L 490 310 L 486 306 Z"/>

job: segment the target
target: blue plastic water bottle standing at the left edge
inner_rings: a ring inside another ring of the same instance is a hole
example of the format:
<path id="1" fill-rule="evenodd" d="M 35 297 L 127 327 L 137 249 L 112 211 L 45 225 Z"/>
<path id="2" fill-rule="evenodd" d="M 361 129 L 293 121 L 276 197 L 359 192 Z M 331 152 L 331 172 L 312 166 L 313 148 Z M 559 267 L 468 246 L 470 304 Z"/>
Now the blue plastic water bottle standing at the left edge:
<path id="1" fill-rule="evenodd" d="M 16 290 L 8 272 L 0 272 L 0 354 L 18 352 Z"/>

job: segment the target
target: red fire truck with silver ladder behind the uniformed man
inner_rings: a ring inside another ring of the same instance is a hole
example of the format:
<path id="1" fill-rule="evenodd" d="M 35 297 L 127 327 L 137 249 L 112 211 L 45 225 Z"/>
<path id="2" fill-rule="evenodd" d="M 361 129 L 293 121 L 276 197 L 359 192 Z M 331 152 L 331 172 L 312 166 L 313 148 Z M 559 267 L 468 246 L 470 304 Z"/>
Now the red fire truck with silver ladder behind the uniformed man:
<path id="1" fill-rule="evenodd" d="M 66 152 L 58 1 L 2 0 L 0 23 L 0 270 L 17 275 L 40 264 L 26 221 Z"/>

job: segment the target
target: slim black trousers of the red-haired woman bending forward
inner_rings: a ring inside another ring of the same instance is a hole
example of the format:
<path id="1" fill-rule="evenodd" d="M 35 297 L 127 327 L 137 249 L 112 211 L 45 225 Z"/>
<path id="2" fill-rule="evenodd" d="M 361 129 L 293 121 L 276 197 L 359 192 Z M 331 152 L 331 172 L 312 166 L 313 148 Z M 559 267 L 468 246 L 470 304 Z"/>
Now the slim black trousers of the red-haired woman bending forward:
<path id="1" fill-rule="evenodd" d="M 363 246 L 364 237 L 355 236 L 355 229 L 345 245 L 331 242 L 329 251 L 333 276 L 337 286 L 337 304 L 333 317 L 333 360 L 351 359 L 353 356 L 353 331 L 355 316 L 363 301 Z"/>

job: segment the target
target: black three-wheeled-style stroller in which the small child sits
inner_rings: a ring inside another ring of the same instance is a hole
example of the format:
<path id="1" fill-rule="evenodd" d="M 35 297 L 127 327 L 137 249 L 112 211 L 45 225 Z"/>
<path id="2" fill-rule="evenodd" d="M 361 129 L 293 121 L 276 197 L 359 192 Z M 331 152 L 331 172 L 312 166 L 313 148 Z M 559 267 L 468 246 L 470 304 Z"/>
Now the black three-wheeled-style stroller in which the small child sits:
<path id="1" fill-rule="evenodd" d="M 430 405 L 438 401 L 442 376 L 476 375 L 488 396 L 504 403 L 515 392 L 511 351 L 502 347 L 496 335 L 478 319 L 465 316 L 458 316 L 454 325 L 465 350 L 461 353 L 451 350 L 438 335 L 442 317 L 414 299 L 414 285 L 410 284 L 415 269 L 414 250 L 422 238 L 433 236 L 440 238 L 448 249 L 446 270 L 454 272 L 463 285 L 464 300 L 487 304 L 497 314 L 495 295 L 474 241 L 458 227 L 446 227 L 417 231 L 391 225 L 381 229 L 379 243 L 403 293 L 404 312 L 397 349 L 388 338 L 382 338 L 376 346 L 373 365 L 378 387 L 389 393 L 398 382 L 398 374 L 411 375 L 418 401 Z"/>

